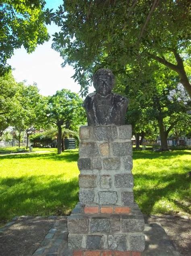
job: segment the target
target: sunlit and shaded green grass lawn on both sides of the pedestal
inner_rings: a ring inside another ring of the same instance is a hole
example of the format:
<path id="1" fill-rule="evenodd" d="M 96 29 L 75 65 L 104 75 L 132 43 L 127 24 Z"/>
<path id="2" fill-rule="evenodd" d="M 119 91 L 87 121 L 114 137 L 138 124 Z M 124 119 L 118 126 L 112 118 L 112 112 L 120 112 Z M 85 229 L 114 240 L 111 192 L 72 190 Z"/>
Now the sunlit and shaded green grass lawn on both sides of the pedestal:
<path id="1" fill-rule="evenodd" d="M 44 150 L 0 155 L 0 222 L 69 214 L 77 203 L 78 150 Z M 189 212 L 191 151 L 133 151 L 133 159 L 135 201 L 144 214 Z"/>

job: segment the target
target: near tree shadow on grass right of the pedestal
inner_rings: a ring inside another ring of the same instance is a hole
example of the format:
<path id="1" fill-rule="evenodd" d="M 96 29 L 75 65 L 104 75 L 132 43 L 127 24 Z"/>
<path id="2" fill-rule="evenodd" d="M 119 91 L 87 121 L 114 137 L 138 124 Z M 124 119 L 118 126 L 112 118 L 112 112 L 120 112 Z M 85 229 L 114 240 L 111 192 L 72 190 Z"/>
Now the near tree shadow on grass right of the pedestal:
<path id="1" fill-rule="evenodd" d="M 190 177 L 187 173 L 174 173 L 166 176 L 147 174 L 135 174 L 135 201 L 139 202 L 139 206 L 144 214 L 151 214 L 154 205 L 162 198 L 166 198 L 185 212 L 190 212 L 189 205 L 179 203 L 174 200 L 174 194 L 178 193 L 181 200 L 189 201 Z M 152 188 L 147 186 L 147 183 L 152 181 Z M 145 184 L 139 186 L 138 184 Z M 166 184 L 160 187 L 161 184 Z M 137 188 L 136 188 L 137 186 Z M 161 206 L 162 207 L 162 206 Z"/>

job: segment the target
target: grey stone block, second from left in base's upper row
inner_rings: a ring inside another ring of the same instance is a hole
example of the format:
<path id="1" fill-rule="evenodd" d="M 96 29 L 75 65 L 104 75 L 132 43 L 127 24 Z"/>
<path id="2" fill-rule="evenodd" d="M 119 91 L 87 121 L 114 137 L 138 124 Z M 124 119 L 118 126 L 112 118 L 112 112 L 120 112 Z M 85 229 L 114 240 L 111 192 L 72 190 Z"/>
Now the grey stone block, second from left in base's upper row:
<path id="1" fill-rule="evenodd" d="M 93 232 L 109 232 L 110 220 L 104 217 L 93 217 L 91 219 L 90 231 Z"/>

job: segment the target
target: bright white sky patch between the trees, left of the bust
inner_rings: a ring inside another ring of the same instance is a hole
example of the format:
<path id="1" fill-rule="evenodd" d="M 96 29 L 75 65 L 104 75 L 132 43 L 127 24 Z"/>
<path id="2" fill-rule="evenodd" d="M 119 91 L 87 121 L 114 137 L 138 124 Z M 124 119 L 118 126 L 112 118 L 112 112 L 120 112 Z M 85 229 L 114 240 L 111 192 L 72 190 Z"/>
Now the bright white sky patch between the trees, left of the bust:
<path id="1" fill-rule="evenodd" d="M 62 0 L 46 0 L 46 8 L 56 10 L 62 4 Z M 55 24 L 47 26 L 50 35 L 59 31 Z M 13 76 L 17 82 L 26 80 L 26 85 L 37 83 L 39 92 L 44 95 L 53 95 L 57 90 L 70 89 L 78 93 L 80 85 L 73 78 L 74 70 L 69 65 L 61 68 L 63 62 L 59 53 L 51 49 L 52 38 L 42 45 L 37 46 L 33 53 L 28 54 L 24 47 L 16 49 L 14 55 L 8 60 L 8 64 L 14 69 Z M 89 88 L 89 93 L 94 88 Z"/>

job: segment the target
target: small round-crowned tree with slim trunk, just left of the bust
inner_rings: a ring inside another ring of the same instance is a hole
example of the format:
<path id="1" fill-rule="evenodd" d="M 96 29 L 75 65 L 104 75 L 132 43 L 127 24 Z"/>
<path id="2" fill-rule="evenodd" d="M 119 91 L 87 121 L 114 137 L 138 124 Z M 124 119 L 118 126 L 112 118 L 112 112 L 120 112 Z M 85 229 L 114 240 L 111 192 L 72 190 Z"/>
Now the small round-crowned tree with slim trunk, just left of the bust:
<path id="1" fill-rule="evenodd" d="M 58 129 L 58 154 L 62 152 L 62 129 L 70 129 L 72 125 L 85 123 L 85 111 L 82 99 L 77 93 L 62 89 L 55 95 L 48 97 L 46 116 L 50 123 Z"/>

